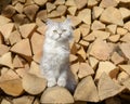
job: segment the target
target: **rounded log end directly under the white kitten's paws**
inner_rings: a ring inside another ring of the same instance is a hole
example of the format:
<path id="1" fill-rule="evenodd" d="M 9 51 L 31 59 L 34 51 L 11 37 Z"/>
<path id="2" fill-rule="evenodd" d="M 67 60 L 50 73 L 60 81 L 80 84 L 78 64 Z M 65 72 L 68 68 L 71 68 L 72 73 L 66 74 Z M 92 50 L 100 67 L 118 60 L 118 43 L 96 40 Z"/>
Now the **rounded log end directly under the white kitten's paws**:
<path id="1" fill-rule="evenodd" d="M 65 88 L 53 87 L 42 93 L 40 103 L 74 103 L 74 99 Z"/>

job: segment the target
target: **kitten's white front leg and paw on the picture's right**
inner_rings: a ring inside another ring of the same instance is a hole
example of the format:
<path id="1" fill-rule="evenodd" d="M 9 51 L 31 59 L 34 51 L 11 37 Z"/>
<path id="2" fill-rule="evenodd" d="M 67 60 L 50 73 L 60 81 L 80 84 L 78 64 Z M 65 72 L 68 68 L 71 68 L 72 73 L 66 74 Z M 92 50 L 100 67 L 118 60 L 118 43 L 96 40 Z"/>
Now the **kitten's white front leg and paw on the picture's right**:
<path id="1" fill-rule="evenodd" d="M 67 81 L 67 70 L 63 70 L 57 79 L 57 86 L 65 87 Z"/>

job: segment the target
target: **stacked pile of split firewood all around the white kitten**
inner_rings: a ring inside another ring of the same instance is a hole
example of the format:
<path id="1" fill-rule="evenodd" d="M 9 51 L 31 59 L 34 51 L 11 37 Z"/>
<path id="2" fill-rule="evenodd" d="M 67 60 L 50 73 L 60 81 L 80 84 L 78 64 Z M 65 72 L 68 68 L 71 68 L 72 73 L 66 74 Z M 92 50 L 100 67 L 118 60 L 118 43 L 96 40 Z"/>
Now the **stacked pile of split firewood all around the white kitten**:
<path id="1" fill-rule="evenodd" d="M 72 18 L 78 86 L 47 88 L 46 21 Z M 130 0 L 0 0 L 0 104 L 130 103 Z"/>

